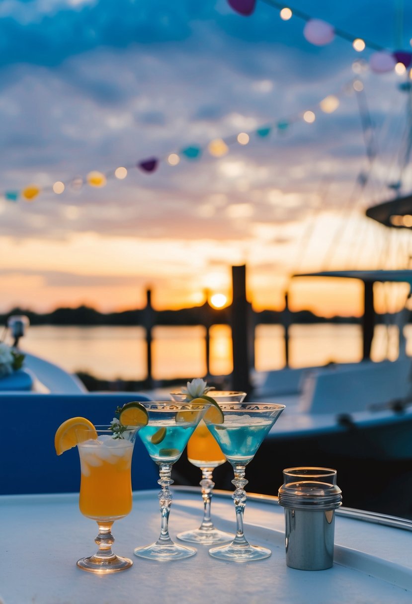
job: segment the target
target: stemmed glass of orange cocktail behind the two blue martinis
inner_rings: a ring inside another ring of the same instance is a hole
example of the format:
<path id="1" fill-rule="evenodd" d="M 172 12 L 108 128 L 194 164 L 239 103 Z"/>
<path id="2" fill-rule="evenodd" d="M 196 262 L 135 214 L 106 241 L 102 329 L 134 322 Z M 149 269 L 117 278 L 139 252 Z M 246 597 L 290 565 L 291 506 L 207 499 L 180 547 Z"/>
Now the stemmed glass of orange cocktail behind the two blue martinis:
<path id="1" fill-rule="evenodd" d="M 170 396 L 173 400 L 185 400 L 187 395 L 175 391 L 171 392 Z M 245 399 L 246 393 L 234 390 L 212 390 L 207 396 L 213 397 L 220 405 L 222 402 L 241 403 Z M 218 530 L 211 521 L 210 508 L 214 487 L 213 470 L 215 467 L 225 463 L 226 458 L 216 439 L 214 439 L 207 425 L 205 425 L 204 420 L 201 420 L 187 443 L 187 458 L 193 466 L 199 467 L 202 471 L 200 485 L 204 513 L 200 527 L 179 533 L 177 535 L 178 539 L 206 545 L 231 541 L 233 535 Z"/>

